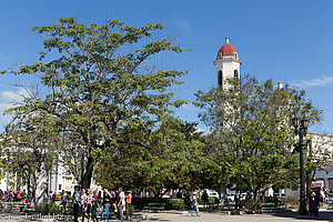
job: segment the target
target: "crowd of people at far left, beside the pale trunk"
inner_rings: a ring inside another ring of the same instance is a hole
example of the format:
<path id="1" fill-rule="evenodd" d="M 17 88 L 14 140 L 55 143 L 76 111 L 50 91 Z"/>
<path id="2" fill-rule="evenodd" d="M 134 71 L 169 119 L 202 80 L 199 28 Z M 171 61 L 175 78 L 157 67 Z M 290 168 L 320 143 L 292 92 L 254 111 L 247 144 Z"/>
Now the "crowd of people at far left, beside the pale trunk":
<path id="1" fill-rule="evenodd" d="M 34 195 L 31 191 L 27 193 L 26 190 L 18 189 L 17 191 L 0 190 L 0 201 L 3 202 L 22 202 L 24 204 L 33 205 Z"/>

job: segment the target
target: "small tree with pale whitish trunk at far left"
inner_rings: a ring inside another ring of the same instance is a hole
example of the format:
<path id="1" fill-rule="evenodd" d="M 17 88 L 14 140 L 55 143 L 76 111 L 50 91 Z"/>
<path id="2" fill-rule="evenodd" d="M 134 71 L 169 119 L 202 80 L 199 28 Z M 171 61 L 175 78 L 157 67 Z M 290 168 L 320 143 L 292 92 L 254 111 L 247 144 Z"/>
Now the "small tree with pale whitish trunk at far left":
<path id="1" fill-rule="evenodd" d="M 26 115 L 7 125 L 1 138 L 7 173 L 16 174 L 34 191 L 40 210 L 48 194 L 47 175 L 59 158 L 60 137 L 53 118 L 46 112 Z"/>

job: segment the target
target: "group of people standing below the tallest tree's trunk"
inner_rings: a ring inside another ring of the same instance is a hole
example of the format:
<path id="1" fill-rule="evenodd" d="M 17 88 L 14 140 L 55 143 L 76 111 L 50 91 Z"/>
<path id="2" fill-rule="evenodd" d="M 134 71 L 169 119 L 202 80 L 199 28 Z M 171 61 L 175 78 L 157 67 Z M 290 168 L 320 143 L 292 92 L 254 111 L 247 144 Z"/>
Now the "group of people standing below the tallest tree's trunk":
<path id="1" fill-rule="evenodd" d="M 104 219 L 109 221 L 110 219 L 110 210 L 119 215 L 119 220 L 124 220 L 124 210 L 125 205 L 132 203 L 132 194 L 131 191 L 128 192 L 128 195 L 124 194 L 122 188 L 119 188 L 118 192 L 108 191 L 105 188 L 103 189 L 103 195 L 98 191 L 92 192 L 90 189 L 81 189 L 77 185 L 74 188 L 74 193 L 72 196 L 73 208 L 74 208 L 74 222 L 78 222 L 79 214 L 81 212 L 82 222 L 84 219 L 88 221 L 92 220 L 97 222 L 97 211 L 98 208 L 101 208 L 101 220 Z M 105 211 L 105 218 L 104 218 Z"/>

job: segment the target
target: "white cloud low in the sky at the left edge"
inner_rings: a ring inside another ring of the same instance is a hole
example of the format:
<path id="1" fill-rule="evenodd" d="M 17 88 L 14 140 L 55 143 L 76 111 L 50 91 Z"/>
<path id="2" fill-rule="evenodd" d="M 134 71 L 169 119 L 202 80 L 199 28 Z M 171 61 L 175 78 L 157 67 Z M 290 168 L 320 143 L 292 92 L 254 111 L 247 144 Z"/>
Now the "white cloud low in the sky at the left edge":
<path id="1" fill-rule="evenodd" d="M 28 95 L 29 93 L 23 88 L 20 88 L 17 91 L 2 91 L 0 93 L 0 127 L 9 123 L 11 118 L 9 114 L 3 115 L 3 112 L 20 104 L 23 101 L 24 97 Z"/>

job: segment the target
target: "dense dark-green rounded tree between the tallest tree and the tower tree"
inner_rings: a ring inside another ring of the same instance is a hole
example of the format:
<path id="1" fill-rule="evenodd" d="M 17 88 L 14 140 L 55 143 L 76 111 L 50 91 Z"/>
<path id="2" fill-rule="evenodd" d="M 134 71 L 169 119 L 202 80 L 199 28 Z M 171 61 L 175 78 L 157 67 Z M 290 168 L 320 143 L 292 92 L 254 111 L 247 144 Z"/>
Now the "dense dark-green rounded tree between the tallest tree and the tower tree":
<path id="1" fill-rule="evenodd" d="M 203 143 L 195 125 L 173 117 L 164 119 L 149 134 L 151 139 L 148 144 L 152 149 L 131 144 L 102 157 L 97 165 L 97 181 L 108 188 L 122 185 L 125 189 L 153 191 L 195 189 L 204 159 Z"/>

